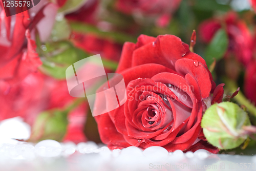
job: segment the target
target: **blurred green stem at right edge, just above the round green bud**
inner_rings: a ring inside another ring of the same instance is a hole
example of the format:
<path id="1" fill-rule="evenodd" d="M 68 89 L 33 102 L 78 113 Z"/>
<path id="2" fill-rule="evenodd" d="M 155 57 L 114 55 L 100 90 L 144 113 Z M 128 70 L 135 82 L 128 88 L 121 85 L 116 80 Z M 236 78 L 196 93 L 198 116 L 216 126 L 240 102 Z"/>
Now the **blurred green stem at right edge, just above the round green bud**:
<path id="1" fill-rule="evenodd" d="M 230 92 L 235 92 L 238 89 L 238 85 L 236 82 L 234 82 L 231 79 L 225 78 L 224 82 L 226 84 L 227 89 Z M 237 100 L 238 103 L 243 104 L 246 106 L 248 111 L 256 117 L 256 107 L 243 95 L 243 93 L 240 91 L 237 96 L 234 97 L 235 100 Z"/>

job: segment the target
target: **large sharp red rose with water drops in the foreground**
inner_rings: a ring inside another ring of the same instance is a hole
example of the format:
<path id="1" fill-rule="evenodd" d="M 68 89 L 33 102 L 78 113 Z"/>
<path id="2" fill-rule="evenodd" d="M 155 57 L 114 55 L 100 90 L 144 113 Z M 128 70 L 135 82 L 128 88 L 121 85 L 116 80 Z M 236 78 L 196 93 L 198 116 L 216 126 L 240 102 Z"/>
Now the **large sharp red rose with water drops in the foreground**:
<path id="1" fill-rule="evenodd" d="M 110 148 L 162 146 L 169 152 L 204 148 L 200 126 L 204 111 L 220 102 L 223 84 L 216 84 L 202 57 L 174 35 L 141 35 L 126 42 L 117 69 L 123 75 L 127 101 L 96 116 L 100 138 Z M 96 98 L 95 108 L 97 108 Z"/>

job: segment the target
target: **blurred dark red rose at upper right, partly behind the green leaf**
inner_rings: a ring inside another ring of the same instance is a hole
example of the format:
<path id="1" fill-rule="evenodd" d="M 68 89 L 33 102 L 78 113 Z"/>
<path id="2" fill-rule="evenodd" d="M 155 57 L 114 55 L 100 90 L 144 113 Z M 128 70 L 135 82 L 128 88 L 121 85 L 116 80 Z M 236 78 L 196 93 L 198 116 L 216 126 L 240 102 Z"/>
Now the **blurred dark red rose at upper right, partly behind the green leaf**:
<path id="1" fill-rule="evenodd" d="M 247 65 L 252 58 L 253 38 L 249 28 L 243 20 L 240 20 L 236 13 L 228 13 L 223 20 L 208 19 L 199 26 L 199 34 L 204 42 L 210 42 L 215 33 L 225 24 L 226 32 L 229 38 L 228 51 L 226 57 L 230 54 Z"/>

